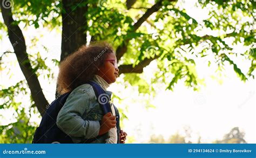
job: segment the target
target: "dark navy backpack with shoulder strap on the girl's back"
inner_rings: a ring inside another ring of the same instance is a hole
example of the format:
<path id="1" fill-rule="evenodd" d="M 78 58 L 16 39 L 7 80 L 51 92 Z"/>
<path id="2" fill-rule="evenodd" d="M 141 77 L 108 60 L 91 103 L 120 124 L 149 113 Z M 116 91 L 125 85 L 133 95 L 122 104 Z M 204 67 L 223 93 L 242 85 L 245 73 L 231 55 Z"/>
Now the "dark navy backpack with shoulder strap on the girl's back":
<path id="1" fill-rule="evenodd" d="M 100 103 L 100 106 L 102 106 L 104 114 L 111 112 L 109 100 L 107 102 L 105 101 L 105 104 L 102 104 L 102 101 L 99 100 L 100 95 L 107 95 L 102 87 L 100 87 L 96 83 L 93 83 L 92 81 L 89 81 L 86 84 L 90 84 L 93 87 L 96 98 L 98 98 L 98 102 Z M 50 107 L 46 110 L 46 113 L 44 114 L 39 127 L 37 127 L 36 129 L 32 143 L 73 143 L 70 136 L 65 134 L 61 129 L 59 129 L 56 124 L 57 115 L 60 109 L 65 104 L 65 101 L 69 97 L 70 93 L 71 92 L 60 95 L 59 98 L 52 101 Z M 100 136 L 92 139 L 85 139 L 84 141 L 82 141 L 82 143 L 90 143 L 98 139 Z"/>

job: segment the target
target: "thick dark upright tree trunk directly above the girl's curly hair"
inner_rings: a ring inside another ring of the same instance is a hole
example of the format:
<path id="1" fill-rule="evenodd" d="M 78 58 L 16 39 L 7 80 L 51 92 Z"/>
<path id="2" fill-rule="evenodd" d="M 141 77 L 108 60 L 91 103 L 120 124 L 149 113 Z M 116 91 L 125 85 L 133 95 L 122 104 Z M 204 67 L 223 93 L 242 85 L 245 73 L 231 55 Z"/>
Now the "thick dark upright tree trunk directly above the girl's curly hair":
<path id="1" fill-rule="evenodd" d="M 62 54 L 60 61 L 86 44 L 87 12 L 86 1 L 62 1 Z"/>

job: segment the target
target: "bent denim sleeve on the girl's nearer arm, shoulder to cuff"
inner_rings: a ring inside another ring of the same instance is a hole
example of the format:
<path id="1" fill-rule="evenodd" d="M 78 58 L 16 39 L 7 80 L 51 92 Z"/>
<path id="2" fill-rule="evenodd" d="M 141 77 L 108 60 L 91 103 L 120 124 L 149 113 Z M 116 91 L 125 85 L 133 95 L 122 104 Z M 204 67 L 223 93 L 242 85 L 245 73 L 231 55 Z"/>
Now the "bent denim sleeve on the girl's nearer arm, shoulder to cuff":
<path id="1" fill-rule="evenodd" d="M 92 87 L 91 87 L 92 88 Z M 69 136 L 95 138 L 99 134 L 99 121 L 84 120 L 82 115 L 89 108 L 91 95 L 87 91 L 70 94 L 57 116 L 57 126 Z"/>

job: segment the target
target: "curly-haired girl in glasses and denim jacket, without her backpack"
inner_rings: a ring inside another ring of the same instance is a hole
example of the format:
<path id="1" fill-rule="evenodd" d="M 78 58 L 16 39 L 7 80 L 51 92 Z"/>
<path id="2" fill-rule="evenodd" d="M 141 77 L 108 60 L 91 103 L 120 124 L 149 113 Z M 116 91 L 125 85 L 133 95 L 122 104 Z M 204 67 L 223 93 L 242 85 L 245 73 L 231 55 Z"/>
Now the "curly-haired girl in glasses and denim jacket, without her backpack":
<path id="1" fill-rule="evenodd" d="M 83 45 L 60 64 L 58 93 L 72 92 L 58 113 L 57 126 L 74 143 L 125 143 L 127 134 L 116 127 L 117 108 L 110 103 L 113 115 L 104 115 L 92 86 L 86 84 L 93 81 L 111 98 L 106 88 L 116 81 L 118 71 L 112 46 L 105 42 Z"/>

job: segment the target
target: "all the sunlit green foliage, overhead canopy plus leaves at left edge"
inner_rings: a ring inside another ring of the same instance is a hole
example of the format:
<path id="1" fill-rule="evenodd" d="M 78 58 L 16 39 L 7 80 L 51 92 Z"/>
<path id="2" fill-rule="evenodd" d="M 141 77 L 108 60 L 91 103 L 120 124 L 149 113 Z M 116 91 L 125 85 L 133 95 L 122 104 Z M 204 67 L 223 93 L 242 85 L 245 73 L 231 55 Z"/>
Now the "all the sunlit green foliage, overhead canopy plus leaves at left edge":
<path id="1" fill-rule="evenodd" d="M 199 1 L 194 5 L 198 9 L 208 10 L 208 17 L 205 19 L 192 17 L 183 4 L 183 1 L 163 1 L 159 10 L 147 18 L 136 31 L 134 23 L 153 5 L 148 1 L 137 1 L 129 10 L 123 1 L 81 1 L 78 5 L 70 7 L 75 10 L 88 6 L 87 12 L 78 16 L 88 19 L 86 23 L 89 27 L 85 28 L 84 33 L 90 35 L 93 40 L 107 40 L 113 43 L 115 49 L 128 41 L 127 52 L 119 60 L 119 65 L 132 64 L 134 67 L 145 59 L 158 56 L 156 71 L 150 81 L 144 73 L 124 74 L 124 80 L 129 83 L 127 86 L 137 86 L 139 93 L 153 97 L 154 87 L 158 83 L 164 83 L 166 89 L 173 90 L 180 80 L 186 86 L 198 90 L 204 82 L 198 78 L 196 59 L 206 58 L 208 66 L 217 65 L 216 71 L 224 70 L 228 63 L 233 66 L 234 72 L 242 81 L 254 78 L 255 2 Z M 35 29 L 44 27 L 50 31 L 61 28 L 62 12 L 62 1 L 12 1 L 15 23 L 22 25 L 24 30 L 30 25 L 35 26 Z M 2 21 L 0 29 L 7 31 Z M 37 41 L 32 41 L 32 44 L 37 45 Z M 235 52 L 235 45 L 239 44 L 247 50 Z M 208 59 L 212 54 L 214 58 Z M 240 65 L 235 63 L 237 58 L 251 61 L 248 70 L 241 70 Z M 42 58 L 41 52 L 30 53 L 29 59 L 27 62 L 31 63 L 33 72 L 38 77 L 44 75 L 49 80 L 53 78 L 52 67 L 45 63 L 46 58 Z M 59 63 L 56 59 L 54 61 Z M 29 107 L 22 107 L 22 102 L 15 99 L 21 94 L 30 97 L 28 89 L 25 81 L 10 87 L 1 87 L 0 108 L 3 111 L 11 109 L 16 119 L 14 123 L 1 126 L 2 142 L 11 142 L 9 138 L 13 141 L 16 137 L 17 142 L 31 141 L 31 131 L 35 126 L 29 119 L 31 114 L 37 113 L 35 104 L 31 99 Z M 118 99 L 118 96 L 116 98 Z M 123 111 L 122 109 L 121 112 Z M 25 132 L 17 133 L 16 129 Z M 171 142 L 184 142 L 184 138 L 176 135 L 171 138 Z"/>

